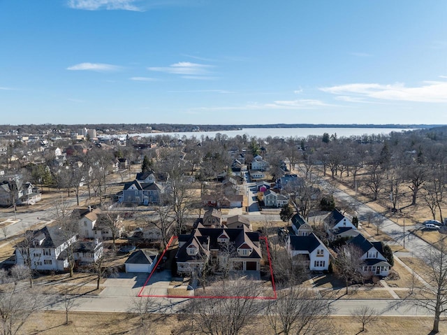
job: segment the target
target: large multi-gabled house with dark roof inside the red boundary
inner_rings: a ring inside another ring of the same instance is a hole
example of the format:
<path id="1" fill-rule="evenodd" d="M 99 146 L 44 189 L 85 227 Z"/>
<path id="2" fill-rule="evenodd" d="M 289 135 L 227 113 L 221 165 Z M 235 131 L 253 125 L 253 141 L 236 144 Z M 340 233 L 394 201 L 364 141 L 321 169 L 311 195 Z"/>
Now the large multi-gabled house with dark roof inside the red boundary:
<path id="1" fill-rule="evenodd" d="M 259 234 L 247 228 L 198 227 L 190 235 L 179 236 L 175 258 L 179 273 L 201 271 L 205 264 L 216 271 L 259 271 Z"/>

